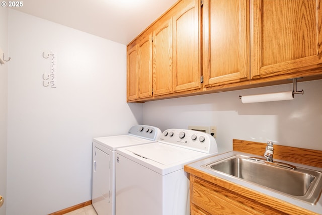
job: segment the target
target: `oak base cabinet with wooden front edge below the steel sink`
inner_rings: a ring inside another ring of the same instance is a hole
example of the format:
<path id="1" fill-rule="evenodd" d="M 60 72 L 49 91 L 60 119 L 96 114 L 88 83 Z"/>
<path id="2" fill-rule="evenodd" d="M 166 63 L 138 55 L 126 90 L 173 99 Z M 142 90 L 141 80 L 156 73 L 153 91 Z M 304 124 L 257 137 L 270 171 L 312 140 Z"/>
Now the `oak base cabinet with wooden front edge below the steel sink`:
<path id="1" fill-rule="evenodd" d="M 185 166 L 190 173 L 191 215 L 317 215 L 313 211 Z"/>

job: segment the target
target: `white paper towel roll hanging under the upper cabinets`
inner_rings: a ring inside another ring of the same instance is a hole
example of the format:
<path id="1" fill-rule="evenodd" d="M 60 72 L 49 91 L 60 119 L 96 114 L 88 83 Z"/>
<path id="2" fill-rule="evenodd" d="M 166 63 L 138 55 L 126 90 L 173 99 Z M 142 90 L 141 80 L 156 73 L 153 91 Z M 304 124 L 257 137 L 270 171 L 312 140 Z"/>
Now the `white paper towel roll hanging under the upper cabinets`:
<path id="1" fill-rule="evenodd" d="M 243 103 L 272 102 L 293 99 L 293 91 L 241 96 Z"/>

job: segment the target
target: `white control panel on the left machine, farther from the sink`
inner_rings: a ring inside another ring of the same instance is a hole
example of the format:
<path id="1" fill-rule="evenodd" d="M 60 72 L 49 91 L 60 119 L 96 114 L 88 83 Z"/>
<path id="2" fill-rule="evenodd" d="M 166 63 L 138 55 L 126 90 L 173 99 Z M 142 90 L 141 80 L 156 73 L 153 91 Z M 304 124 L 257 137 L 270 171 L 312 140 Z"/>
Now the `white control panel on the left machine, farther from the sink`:
<path id="1" fill-rule="evenodd" d="M 161 136 L 161 130 L 150 125 L 133 125 L 127 134 L 141 137 L 143 139 L 157 141 Z"/>

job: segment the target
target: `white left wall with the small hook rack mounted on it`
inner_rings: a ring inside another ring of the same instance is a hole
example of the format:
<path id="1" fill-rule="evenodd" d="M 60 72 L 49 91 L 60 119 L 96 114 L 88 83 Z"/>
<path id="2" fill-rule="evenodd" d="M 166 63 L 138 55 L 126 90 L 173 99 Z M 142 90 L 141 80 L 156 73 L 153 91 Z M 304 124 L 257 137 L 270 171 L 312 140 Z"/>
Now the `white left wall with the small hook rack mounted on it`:
<path id="1" fill-rule="evenodd" d="M 92 138 L 142 122 L 126 103 L 126 46 L 9 10 L 9 48 L 7 215 L 91 200 Z M 57 88 L 42 85 L 51 50 Z"/>

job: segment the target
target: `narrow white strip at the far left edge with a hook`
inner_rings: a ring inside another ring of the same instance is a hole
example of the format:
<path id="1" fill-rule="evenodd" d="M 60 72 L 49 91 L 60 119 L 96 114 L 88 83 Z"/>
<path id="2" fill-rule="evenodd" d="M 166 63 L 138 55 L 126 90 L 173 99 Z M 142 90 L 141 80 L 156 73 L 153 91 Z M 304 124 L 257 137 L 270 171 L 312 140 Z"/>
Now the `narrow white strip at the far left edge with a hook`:
<path id="1" fill-rule="evenodd" d="M 8 8 L 0 7 L 0 48 L 8 59 Z M 2 55 L 0 56 L 3 57 Z M 5 198 L 0 215 L 6 214 L 7 203 L 7 105 L 8 63 L 0 63 L 0 195 Z"/>

